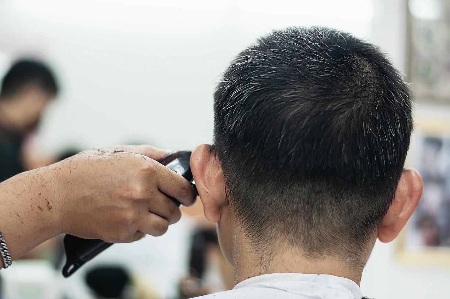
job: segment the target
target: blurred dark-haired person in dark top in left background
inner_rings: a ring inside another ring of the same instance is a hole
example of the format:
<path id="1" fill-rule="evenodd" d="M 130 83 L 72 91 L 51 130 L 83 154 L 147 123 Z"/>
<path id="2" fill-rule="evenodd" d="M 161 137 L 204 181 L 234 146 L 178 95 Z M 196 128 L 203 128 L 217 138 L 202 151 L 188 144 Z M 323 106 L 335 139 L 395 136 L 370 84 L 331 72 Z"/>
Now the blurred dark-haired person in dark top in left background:
<path id="1" fill-rule="evenodd" d="M 0 91 L 0 181 L 27 170 L 23 144 L 57 94 L 55 76 L 42 62 L 18 60 L 4 75 Z"/>

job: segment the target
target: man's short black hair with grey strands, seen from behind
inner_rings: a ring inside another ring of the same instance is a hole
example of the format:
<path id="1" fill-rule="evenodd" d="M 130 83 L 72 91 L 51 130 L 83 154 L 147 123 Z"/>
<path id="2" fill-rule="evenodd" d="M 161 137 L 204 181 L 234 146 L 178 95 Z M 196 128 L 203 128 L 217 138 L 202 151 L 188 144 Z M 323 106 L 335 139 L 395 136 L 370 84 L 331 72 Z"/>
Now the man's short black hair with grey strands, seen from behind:
<path id="1" fill-rule="evenodd" d="M 408 86 L 376 46 L 291 27 L 238 55 L 214 94 L 229 204 L 252 244 L 364 263 L 413 128 Z"/>

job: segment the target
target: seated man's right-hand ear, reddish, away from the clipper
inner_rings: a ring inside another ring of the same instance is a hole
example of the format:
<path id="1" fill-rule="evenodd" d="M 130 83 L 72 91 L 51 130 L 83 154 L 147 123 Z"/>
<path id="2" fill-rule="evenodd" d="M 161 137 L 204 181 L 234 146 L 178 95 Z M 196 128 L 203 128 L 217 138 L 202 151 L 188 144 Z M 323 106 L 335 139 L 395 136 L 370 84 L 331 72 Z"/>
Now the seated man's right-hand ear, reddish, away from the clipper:
<path id="1" fill-rule="evenodd" d="M 391 242 L 405 226 L 422 197 L 422 178 L 415 169 L 405 169 L 397 185 L 391 206 L 378 230 L 378 239 Z"/>

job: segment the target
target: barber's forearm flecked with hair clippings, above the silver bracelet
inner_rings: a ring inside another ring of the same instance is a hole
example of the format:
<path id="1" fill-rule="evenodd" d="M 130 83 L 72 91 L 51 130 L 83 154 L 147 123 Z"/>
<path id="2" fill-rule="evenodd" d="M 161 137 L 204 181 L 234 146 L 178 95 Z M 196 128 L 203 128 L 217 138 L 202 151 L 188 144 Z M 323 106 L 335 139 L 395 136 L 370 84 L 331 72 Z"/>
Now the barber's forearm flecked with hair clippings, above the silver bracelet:
<path id="1" fill-rule="evenodd" d="M 61 233 L 62 192 L 54 172 L 38 168 L 0 183 L 0 231 L 13 260 Z"/>

